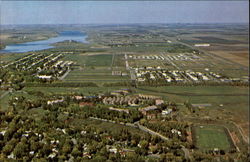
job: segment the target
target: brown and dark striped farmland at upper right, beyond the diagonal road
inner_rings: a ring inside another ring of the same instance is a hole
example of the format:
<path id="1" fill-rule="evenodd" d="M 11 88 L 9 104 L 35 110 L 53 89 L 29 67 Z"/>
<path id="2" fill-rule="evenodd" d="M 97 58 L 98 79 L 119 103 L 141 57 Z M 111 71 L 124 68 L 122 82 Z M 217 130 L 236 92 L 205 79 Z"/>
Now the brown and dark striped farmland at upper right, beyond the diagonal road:
<path id="1" fill-rule="evenodd" d="M 216 34 L 216 32 L 219 34 Z M 200 49 L 248 67 L 249 52 L 247 36 L 247 30 L 216 29 L 207 33 L 196 31 L 183 34 L 181 42 L 189 45 L 209 43 L 209 47 L 200 47 Z"/>

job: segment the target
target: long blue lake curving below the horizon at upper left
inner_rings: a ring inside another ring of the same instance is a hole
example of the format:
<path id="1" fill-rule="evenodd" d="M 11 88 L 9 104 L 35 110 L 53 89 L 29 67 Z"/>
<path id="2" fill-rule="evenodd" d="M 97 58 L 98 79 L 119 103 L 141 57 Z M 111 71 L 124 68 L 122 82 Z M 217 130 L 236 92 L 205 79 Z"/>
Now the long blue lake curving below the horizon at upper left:
<path id="1" fill-rule="evenodd" d="M 49 38 L 47 40 L 7 45 L 6 48 L 3 50 L 0 50 L 0 52 L 20 53 L 20 52 L 44 50 L 44 49 L 53 48 L 53 46 L 51 45 L 53 43 L 62 42 L 65 40 L 88 43 L 86 38 L 87 38 L 87 35 L 80 31 L 63 31 L 63 32 L 60 32 L 57 37 Z"/>

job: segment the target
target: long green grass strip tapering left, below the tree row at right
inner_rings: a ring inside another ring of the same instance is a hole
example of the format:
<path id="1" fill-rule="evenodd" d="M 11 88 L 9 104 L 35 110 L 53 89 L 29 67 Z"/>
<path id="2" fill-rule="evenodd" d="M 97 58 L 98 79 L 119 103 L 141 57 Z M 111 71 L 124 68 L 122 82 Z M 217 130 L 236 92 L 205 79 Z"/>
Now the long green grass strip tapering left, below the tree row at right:
<path id="1" fill-rule="evenodd" d="M 141 88 L 143 89 L 139 89 L 139 93 L 159 95 L 175 102 L 183 103 L 189 100 L 191 103 L 211 103 L 214 107 L 224 104 L 227 108 L 248 110 L 248 87 L 165 86 Z"/>

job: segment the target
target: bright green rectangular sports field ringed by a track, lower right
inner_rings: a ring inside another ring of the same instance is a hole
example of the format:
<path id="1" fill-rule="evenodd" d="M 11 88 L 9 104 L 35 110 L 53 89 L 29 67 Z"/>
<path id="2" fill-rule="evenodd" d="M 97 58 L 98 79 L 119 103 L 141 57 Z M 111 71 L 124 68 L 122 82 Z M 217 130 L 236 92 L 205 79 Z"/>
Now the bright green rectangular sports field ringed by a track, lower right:
<path id="1" fill-rule="evenodd" d="M 215 148 L 229 150 L 232 147 L 231 139 L 223 127 L 200 125 L 195 126 L 193 129 L 195 145 L 201 150 L 214 150 Z"/>

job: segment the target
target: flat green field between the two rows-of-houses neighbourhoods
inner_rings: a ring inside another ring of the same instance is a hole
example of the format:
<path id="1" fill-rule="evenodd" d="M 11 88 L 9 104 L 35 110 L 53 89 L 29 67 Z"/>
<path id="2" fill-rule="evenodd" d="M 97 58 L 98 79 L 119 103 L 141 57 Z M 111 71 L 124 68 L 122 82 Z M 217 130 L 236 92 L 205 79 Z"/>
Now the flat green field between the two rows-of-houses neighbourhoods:
<path id="1" fill-rule="evenodd" d="M 125 72 L 125 67 L 122 67 L 123 55 L 76 54 L 69 56 L 64 59 L 75 61 L 80 67 L 71 71 L 64 78 L 65 82 L 95 82 L 101 85 L 106 82 L 123 82 L 129 79 L 129 76 L 112 75 L 112 70 Z"/>

